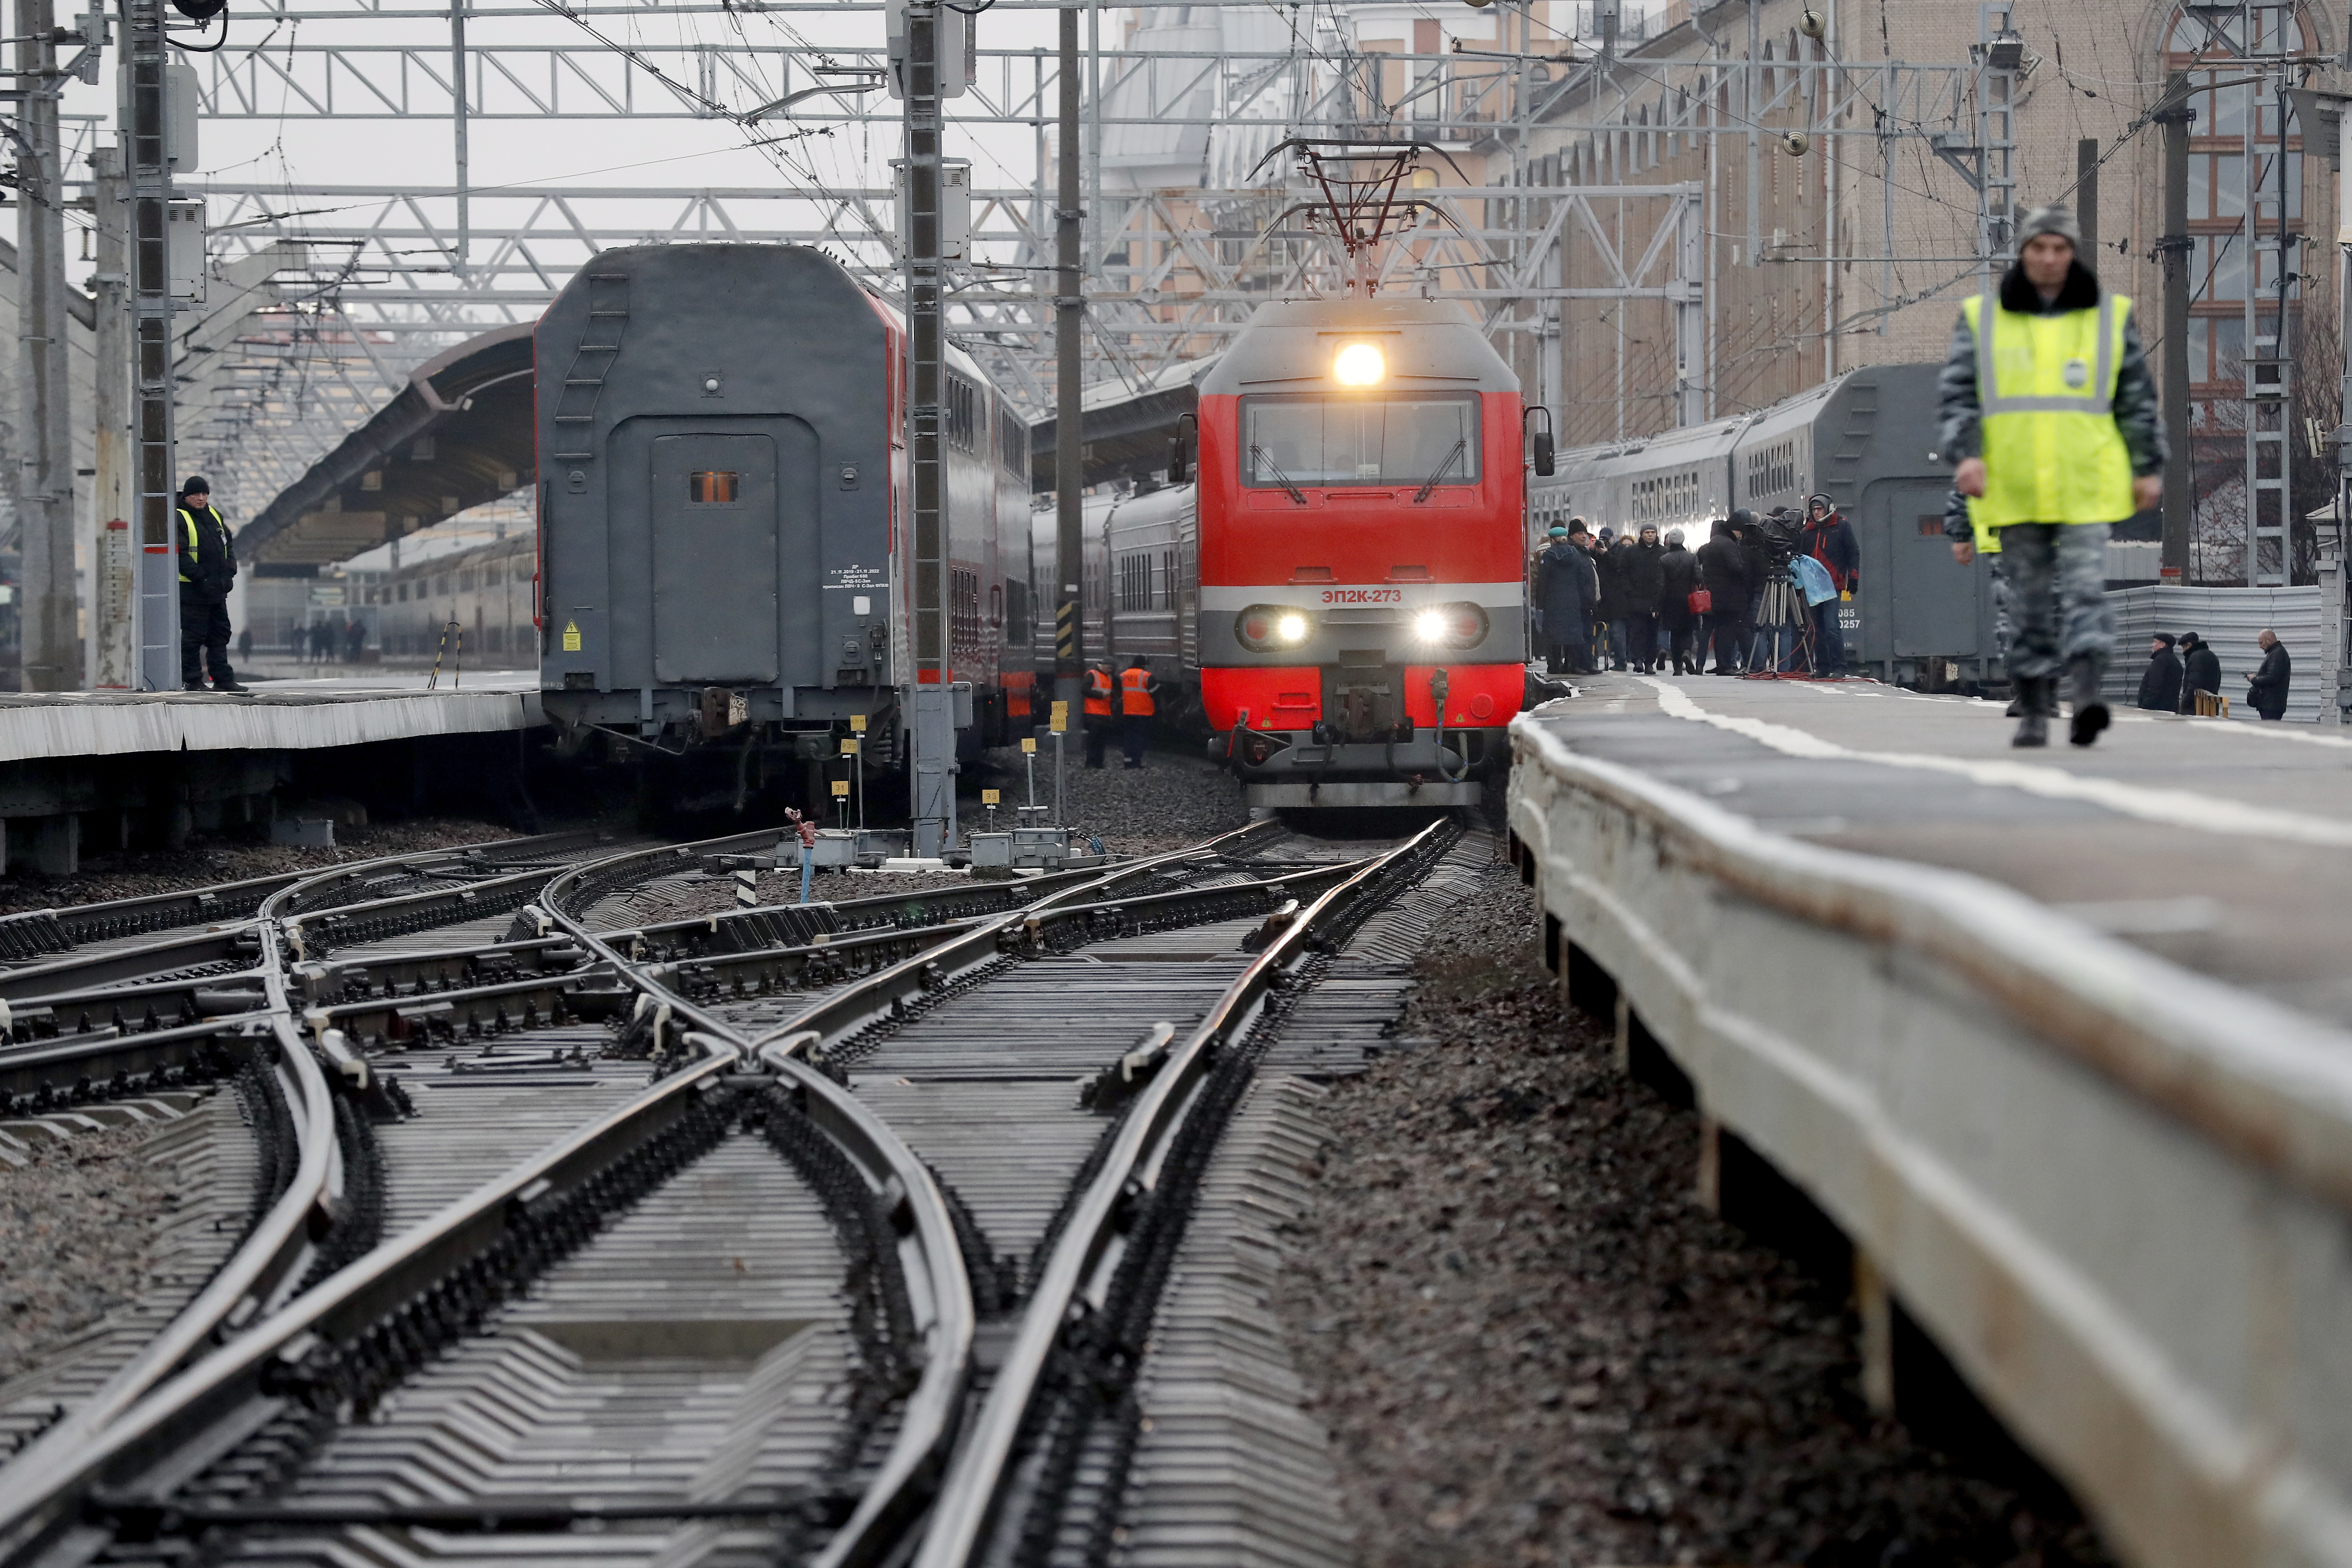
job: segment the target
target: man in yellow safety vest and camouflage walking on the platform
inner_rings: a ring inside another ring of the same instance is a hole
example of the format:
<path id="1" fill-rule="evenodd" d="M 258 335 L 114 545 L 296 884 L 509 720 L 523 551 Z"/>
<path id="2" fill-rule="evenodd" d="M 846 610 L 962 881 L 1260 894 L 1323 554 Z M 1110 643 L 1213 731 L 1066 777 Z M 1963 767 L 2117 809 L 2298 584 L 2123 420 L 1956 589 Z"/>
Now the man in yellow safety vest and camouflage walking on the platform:
<path id="1" fill-rule="evenodd" d="M 2164 414 L 2131 301 L 2103 289 L 2079 249 L 2065 207 L 2027 214 L 1999 292 L 1962 303 L 1936 388 L 1952 487 L 2002 541 L 2013 745 L 2049 745 L 2060 675 L 2067 738 L 2091 745 L 2107 726 L 2107 527 L 2164 494 Z M 1976 543 L 1955 538 L 1952 557 L 1976 559 Z"/>

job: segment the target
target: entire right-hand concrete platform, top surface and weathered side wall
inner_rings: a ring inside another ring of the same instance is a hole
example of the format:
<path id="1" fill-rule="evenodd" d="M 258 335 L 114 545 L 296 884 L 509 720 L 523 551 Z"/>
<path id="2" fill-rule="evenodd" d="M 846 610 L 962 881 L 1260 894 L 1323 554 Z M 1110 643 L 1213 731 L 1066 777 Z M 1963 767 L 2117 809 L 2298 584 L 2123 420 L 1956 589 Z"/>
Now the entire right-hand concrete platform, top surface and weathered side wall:
<path id="1" fill-rule="evenodd" d="M 2011 729 L 1585 677 L 1512 724 L 1545 954 L 1700 1201 L 1851 1244 L 1867 1394 L 1926 1335 L 2122 1561 L 2352 1568 L 2352 736 Z"/>

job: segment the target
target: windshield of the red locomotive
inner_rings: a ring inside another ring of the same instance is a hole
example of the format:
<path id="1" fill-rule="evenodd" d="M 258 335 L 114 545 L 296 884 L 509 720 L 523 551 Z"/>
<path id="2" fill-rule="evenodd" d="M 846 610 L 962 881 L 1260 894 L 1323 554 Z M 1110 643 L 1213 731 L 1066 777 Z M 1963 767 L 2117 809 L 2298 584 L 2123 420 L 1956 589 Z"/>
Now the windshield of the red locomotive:
<path id="1" fill-rule="evenodd" d="M 1472 484 L 1477 395 L 1244 397 L 1242 484 Z"/>

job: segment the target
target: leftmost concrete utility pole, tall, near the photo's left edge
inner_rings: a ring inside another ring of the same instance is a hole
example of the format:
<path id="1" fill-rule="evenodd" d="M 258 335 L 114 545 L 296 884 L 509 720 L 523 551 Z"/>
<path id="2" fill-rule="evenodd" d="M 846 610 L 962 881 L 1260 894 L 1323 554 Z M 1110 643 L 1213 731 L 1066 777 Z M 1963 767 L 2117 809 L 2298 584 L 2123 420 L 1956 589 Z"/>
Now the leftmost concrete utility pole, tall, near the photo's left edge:
<path id="1" fill-rule="evenodd" d="M 75 691 L 73 421 L 66 407 L 66 181 L 54 0 L 16 0 L 16 527 L 24 689 Z"/>

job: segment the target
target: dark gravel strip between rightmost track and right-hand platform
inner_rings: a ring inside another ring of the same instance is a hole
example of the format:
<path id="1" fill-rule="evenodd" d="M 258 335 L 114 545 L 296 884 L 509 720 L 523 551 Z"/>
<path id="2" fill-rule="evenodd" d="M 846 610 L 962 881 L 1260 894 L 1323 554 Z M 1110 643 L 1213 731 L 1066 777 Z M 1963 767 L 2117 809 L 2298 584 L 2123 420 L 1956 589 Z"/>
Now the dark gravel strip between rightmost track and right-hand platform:
<path id="1" fill-rule="evenodd" d="M 1875 1420 L 1853 1321 L 1691 1199 L 1698 1119 L 1569 1013 L 1515 882 L 1331 1098 L 1279 1284 L 1367 1568 L 2105 1563 L 2063 1497 Z"/>

